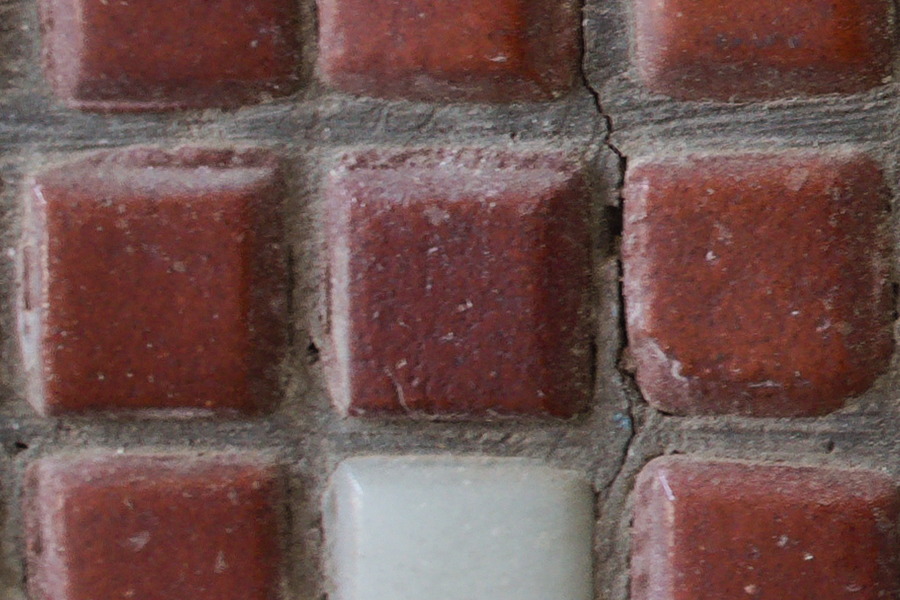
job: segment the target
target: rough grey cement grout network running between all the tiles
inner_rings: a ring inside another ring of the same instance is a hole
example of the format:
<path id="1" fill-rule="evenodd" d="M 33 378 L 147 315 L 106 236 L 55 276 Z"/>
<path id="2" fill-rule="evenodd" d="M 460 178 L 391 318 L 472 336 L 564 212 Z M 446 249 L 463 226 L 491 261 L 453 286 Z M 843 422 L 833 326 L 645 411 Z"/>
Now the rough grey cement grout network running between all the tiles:
<path id="1" fill-rule="evenodd" d="M 588 15 L 588 38 L 606 37 L 616 33 L 613 26 L 606 21 L 593 20 L 598 7 L 590 3 L 586 7 Z M 621 16 L 627 14 L 628 7 L 619 7 L 621 11 L 612 11 Z M 18 31 L 5 32 L 4 41 L 7 44 L 19 47 L 34 48 L 36 37 L 35 18 L 33 7 L 27 3 L 13 4 L 11 13 L 13 21 L 31 28 L 30 35 L 23 35 Z M 16 19 L 15 17 L 18 17 Z M 609 17 L 607 13 L 604 18 Z M 601 24 L 605 23 L 605 24 Z M 618 31 L 618 33 L 622 33 Z M 603 34 L 603 35 L 600 35 Z M 613 36 L 615 37 L 615 36 Z M 622 39 L 622 38 L 618 38 Z M 626 38 L 627 39 L 627 36 Z M 18 41 L 17 41 L 18 40 Z M 608 54 L 608 50 L 591 52 L 590 44 L 588 62 Z M 23 54 L 27 57 L 27 53 Z M 593 57 L 593 58 L 592 58 Z M 32 55 L 33 58 L 33 55 Z M 620 64 L 627 64 L 622 62 Z M 20 65 L 20 69 L 23 67 Z M 587 71 L 589 76 L 601 73 L 601 70 Z M 24 75 L 23 75 L 24 73 Z M 17 79 L 18 77 L 18 79 Z M 599 75 L 598 75 L 599 77 Z M 599 79 L 598 79 L 599 80 Z M 30 81 L 27 86 L 22 82 Z M 612 81 L 615 86 L 621 80 L 615 77 L 603 79 Z M 58 162 L 67 158 L 68 153 L 74 149 L 84 147 L 120 146 L 136 142 L 144 142 L 145 132 L 152 132 L 151 139 L 163 141 L 169 144 L 175 141 L 194 141 L 196 139 L 219 139 L 231 142 L 252 142 L 253 145 L 284 145 L 284 154 L 297 158 L 297 162 L 304 160 L 314 163 L 309 159 L 309 154 L 315 158 L 325 159 L 327 162 L 332 157 L 332 149 L 342 143 L 360 142 L 384 143 L 386 140 L 397 143 L 410 143 L 429 140 L 429 132 L 432 129 L 440 131 L 443 136 L 438 139 L 448 143 L 456 143 L 461 140 L 471 143 L 477 140 L 481 143 L 505 142 L 507 134 L 521 135 L 529 141 L 552 142 L 572 147 L 597 147 L 602 140 L 602 122 L 592 110 L 590 98 L 583 90 L 572 97 L 564 98 L 553 106 L 533 107 L 515 114 L 515 110 L 508 112 L 490 108 L 479 108 L 474 111 L 474 116 L 466 119 L 466 111 L 451 109 L 443 114 L 431 109 L 417 109 L 410 106 L 390 106 L 372 103 L 363 100 L 347 100 L 342 97 L 309 96 L 302 99 L 299 110 L 289 110 L 288 103 L 283 105 L 262 106 L 258 109 L 241 111 L 241 114 L 223 115 L 188 115 L 181 117 L 108 117 L 99 118 L 90 115 L 76 115 L 66 113 L 54 107 L 46 100 L 46 90 L 38 83 L 36 71 L 31 66 L 26 66 L 20 74 L 7 79 L 12 82 L 10 93 L 5 95 L 3 101 L 9 114 L 21 115 L 21 119 L 15 119 L 14 123 L 4 123 L 2 139 L 4 140 L 4 164 L 3 174 L 7 186 L 4 191 L 7 201 L 7 215 L 10 223 L 7 232 L 7 241 L 11 242 L 15 237 L 16 222 L 15 207 L 19 206 L 19 199 L 24 190 L 19 188 L 16 182 L 21 181 L 25 174 L 33 173 L 40 169 L 42 163 Z M 15 85 L 19 82 L 19 85 Z M 23 94 L 22 90 L 28 90 Z M 321 92 L 320 92 L 321 93 Z M 30 96 L 29 96 L 30 94 Z M 873 92 L 871 96 L 853 99 L 847 106 L 859 106 L 866 103 L 875 105 L 874 114 L 878 112 L 881 102 L 880 94 L 893 94 L 890 91 L 881 90 Z M 628 102 L 637 99 L 646 100 L 641 93 L 627 93 L 609 95 L 603 94 L 604 99 L 610 98 L 613 104 L 604 104 L 605 110 L 616 117 L 616 103 Z M 892 97 L 892 96 L 891 96 Z M 621 99 L 621 100 L 619 100 Z M 30 102 L 29 100 L 35 100 Z M 653 102 L 658 102 L 654 100 Z M 777 129 L 779 125 L 791 121 L 794 118 L 821 123 L 827 119 L 817 118 L 827 115 L 831 111 L 840 110 L 843 100 L 835 99 L 823 104 L 816 101 L 801 102 L 801 106 L 778 107 L 772 111 L 763 127 L 763 135 L 757 139 L 753 136 L 747 141 L 748 145 L 765 145 L 772 143 L 771 138 L 765 136 L 765 131 Z M 881 102 L 883 104 L 883 102 Z M 663 115 L 670 115 L 678 110 L 677 104 L 663 103 L 665 110 Z M 349 114 L 341 115 L 341 108 L 349 107 Z M 650 106 L 647 102 L 644 107 Z M 613 143 L 620 149 L 625 149 L 626 154 L 640 154 L 641 149 L 652 150 L 654 144 L 660 142 L 648 142 L 642 137 L 646 126 L 629 129 L 629 115 L 635 111 L 641 112 L 641 108 L 625 106 L 622 125 L 617 127 L 614 133 Z M 6 110 L 6 108 L 4 110 Z M 404 130 L 405 125 L 397 124 L 400 121 L 409 121 L 416 114 L 418 122 L 424 123 L 418 131 L 410 133 Z M 725 148 L 747 135 L 747 128 L 741 129 L 741 119 L 749 122 L 755 109 L 750 106 L 737 107 L 734 113 L 737 119 L 733 123 L 713 128 L 710 141 L 701 144 L 701 148 Z M 630 111 L 630 112 L 629 112 Z M 708 116 L 715 124 L 717 112 L 721 109 L 710 108 Z M 728 112 L 728 111 L 726 111 Z M 850 112 L 850 111 L 848 111 Z M 323 113 L 325 113 L 323 115 Z M 706 116 L 703 109 L 697 111 L 701 117 Z M 730 114 L 730 113 L 728 113 Z M 335 116 L 341 115 L 341 116 Z M 369 137 L 356 137 L 351 133 L 354 119 L 370 122 L 372 115 L 378 115 L 378 122 L 383 123 L 379 127 L 366 129 L 371 132 Z M 657 117 L 659 118 L 659 117 Z M 696 118 L 696 117 L 694 117 Z M 452 126 L 466 119 L 466 123 L 474 124 L 472 129 L 457 132 Z M 518 121 L 517 121 L 518 119 Z M 876 119 L 872 119 L 875 121 Z M 539 122 L 537 128 L 520 131 L 517 123 Z M 287 127 L 284 127 L 287 122 Z M 616 121 L 614 120 L 614 123 Z M 634 123 L 635 121 L 631 121 Z M 823 139 L 841 143 L 859 143 L 871 146 L 872 139 L 893 140 L 890 130 L 884 127 L 884 123 L 890 122 L 890 113 L 885 111 L 883 120 L 878 125 L 872 123 L 862 127 L 844 123 L 838 123 L 834 119 L 828 122 L 834 123 L 829 128 L 819 125 L 821 129 L 810 130 L 810 138 L 821 133 Z M 111 123 L 111 124 L 110 124 Z M 579 124 L 589 123 L 589 133 L 583 135 L 584 127 Z M 342 129 L 342 125 L 346 127 Z M 484 125 L 481 133 L 477 131 L 478 125 Z M 37 127 L 36 127 L 37 126 Z M 441 129 L 441 128 L 444 129 Z M 643 127 L 643 129 L 642 129 Z M 669 128 L 663 127 L 660 131 L 667 132 L 670 129 L 677 131 L 678 127 L 686 127 L 674 121 Z M 766 129 L 768 128 L 768 129 Z M 50 131 L 54 133 L 51 134 Z M 56 129 L 61 130 L 61 135 L 56 135 Z M 334 131 L 332 131 L 334 130 Z M 723 133 L 724 131 L 724 133 Z M 269 133 L 266 133 L 269 132 Z M 275 133 L 277 132 L 277 133 Z M 336 133 L 335 133 L 336 132 Z M 488 132 L 487 135 L 484 132 Z M 578 132 L 577 134 L 573 132 Z M 876 133 L 878 132 L 878 133 Z M 735 135 L 741 133 L 740 136 Z M 107 135 L 109 134 L 109 135 Z M 300 135 L 298 135 L 300 134 Z M 693 134 L 692 134 L 693 135 Z M 729 135 L 731 137 L 729 137 Z M 304 148 L 294 145 L 292 137 L 302 137 Z M 480 137 L 479 137 L 480 136 Z M 879 137 L 880 136 L 880 137 Z M 663 134 L 666 142 L 673 147 L 689 146 L 696 139 L 686 137 L 669 137 Z M 433 138 L 431 138 L 433 139 Z M 800 142 L 810 141 L 800 139 Z M 776 140 L 775 144 L 781 144 L 790 148 L 798 143 L 796 138 L 791 140 Z M 311 150 L 306 157 L 301 158 L 303 151 Z M 876 148 L 880 157 L 892 157 L 893 151 L 881 153 Z M 884 158 L 887 162 L 887 158 Z M 601 161 L 602 162 L 602 161 Z M 609 163 L 606 163 L 609 164 Z M 891 167 L 888 167 L 891 169 Z M 614 169 L 607 173 L 610 180 L 615 178 Z M 295 174 L 297 179 L 305 177 Z M 893 183 L 893 173 L 889 172 L 889 179 Z M 294 182 L 297 189 L 309 190 L 309 184 Z M 313 194 L 301 194 L 310 204 L 315 203 Z M 294 204 L 288 207 L 288 211 L 296 210 L 299 206 Z M 292 233 L 308 233 L 304 224 L 293 218 L 291 221 Z M 295 309 L 309 302 L 309 294 L 306 290 L 315 287 L 314 279 L 310 281 L 306 274 L 297 274 L 303 266 L 309 266 L 308 248 L 299 246 L 295 248 L 294 269 Z M 294 568 L 289 570 L 291 593 L 300 597 L 314 597 L 318 593 L 321 578 L 314 572 L 316 567 L 305 567 L 304 564 L 318 564 L 315 556 L 318 550 L 318 528 L 315 524 L 318 514 L 318 498 L 321 495 L 321 475 L 332 470 L 335 463 L 342 457 L 356 453 L 397 451 L 410 453 L 429 453 L 436 449 L 441 451 L 455 451 L 461 454 L 499 454 L 514 456 L 531 456 L 546 460 L 551 464 L 575 468 L 588 473 L 593 483 L 600 492 L 601 517 L 597 530 L 597 565 L 598 574 L 596 585 L 600 597 L 625 597 L 624 582 L 627 577 L 623 568 L 627 559 L 628 534 L 627 522 L 630 512 L 627 510 L 626 496 L 631 489 L 631 482 L 637 470 L 646 463 L 647 459 L 664 452 L 699 452 L 731 458 L 750 459 L 784 459 L 792 462 L 810 463 L 838 463 L 849 466 L 864 465 L 884 468 L 896 473 L 898 465 L 892 459 L 887 448 L 895 441 L 896 433 L 890 426 L 891 416 L 896 416 L 896 409 L 890 401 L 890 381 L 882 381 L 875 390 L 867 395 L 861 402 L 854 404 L 842 414 L 827 417 L 817 421 L 795 421 L 760 423 L 743 420 L 740 418 L 695 418 L 678 419 L 662 417 L 649 410 L 636 394 L 635 389 L 627 380 L 623 381 L 614 368 L 619 332 L 615 325 L 615 316 L 618 309 L 615 294 L 615 269 L 605 252 L 598 253 L 597 276 L 599 295 L 601 296 L 598 317 L 598 329 L 600 351 L 598 356 L 597 397 L 593 403 L 593 409 L 587 415 L 577 421 L 568 424 L 560 423 L 517 423 L 500 422 L 493 424 L 445 424 L 445 423 L 421 423 L 409 426 L 395 422 L 346 422 L 332 414 L 328 406 L 327 396 L 322 389 L 321 373 L 315 363 L 316 343 L 321 337 L 315 328 L 307 322 L 306 313 L 295 310 L 297 319 L 293 332 L 295 353 L 290 361 L 298 365 L 304 361 L 312 363 L 310 366 L 288 369 L 289 380 L 288 399 L 276 411 L 275 414 L 247 422 L 119 422 L 108 419 L 63 419 L 44 421 L 32 416 L 30 409 L 24 404 L 19 381 L 16 381 L 10 371 L 15 368 L 14 352 L 5 353 L 7 359 L 8 374 L 6 384 L 9 390 L 10 402 L 4 406 L 3 437 L 6 441 L 4 448 L 7 451 L 7 459 L 4 461 L 4 475 L 8 481 L 20 481 L 24 465 L 36 456 L 51 454 L 61 449 L 108 447 L 124 448 L 132 451 L 135 448 L 164 448 L 168 450 L 186 450 L 198 452 L 209 449 L 244 448 L 259 449 L 260 440 L 266 440 L 265 450 L 279 457 L 279 461 L 289 464 L 291 472 L 292 491 L 290 497 L 298 506 L 295 515 L 295 523 L 299 523 L 293 530 L 296 536 L 297 549 L 295 552 L 302 555 L 308 553 L 307 560 L 291 561 Z M 313 266 L 316 266 L 313 263 Z M 9 275 L 9 268 L 7 271 Z M 306 286 L 306 287 L 304 287 Z M 306 296 L 306 297 L 304 297 Z M 10 293 L 9 298 L 12 297 Z M 7 311 L 11 314 L 11 311 Z M 298 316 L 302 315 L 302 316 Z M 9 319 L 9 317 L 7 317 Z M 11 331 L 12 329 L 7 329 Z M 304 345 L 306 338 L 310 338 L 308 345 Z M 9 340 L 7 345 L 11 346 Z M 306 349 L 306 352 L 304 352 Z M 892 368 L 892 373 L 896 369 Z M 632 436 L 634 431 L 637 436 Z M 727 432 L 727 435 L 726 435 Z M 23 448 L 22 446 L 28 446 Z M 626 453 L 625 450 L 628 450 Z M 22 452 L 24 450 L 24 452 Z M 894 462 L 892 462 L 894 461 Z M 14 486 L 15 487 L 15 486 Z M 13 494 L 15 495 L 15 494 Z M 11 498 L 12 496 L 7 496 Z M 16 547 L 21 540 L 21 528 L 17 525 L 17 508 L 15 502 L 9 502 L 10 524 L 5 528 L 4 535 L 8 536 L 8 545 Z M 6 577 L 3 584 L 7 586 L 11 597 L 20 594 L 18 581 L 22 576 L 20 554 L 17 551 L 9 553 L 5 561 Z M 298 558 L 303 558 L 298 556 Z M 309 560 L 312 558 L 312 560 Z M 307 570 L 309 569 L 309 570 Z"/>

